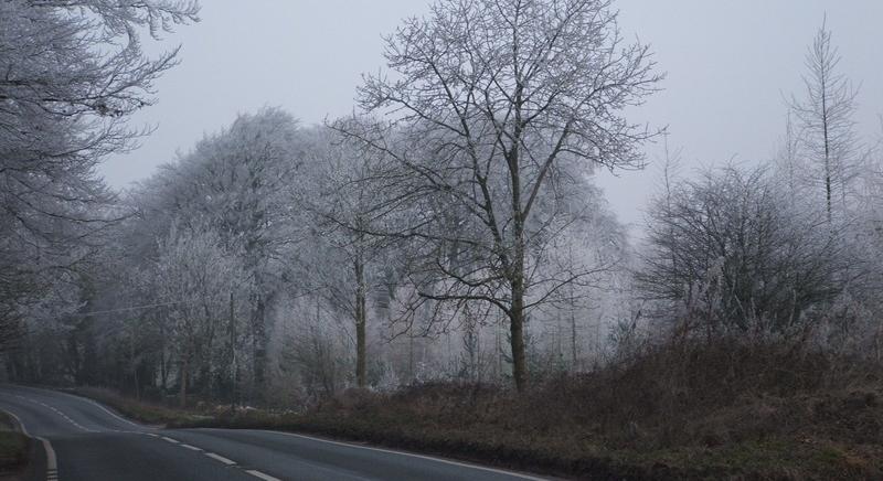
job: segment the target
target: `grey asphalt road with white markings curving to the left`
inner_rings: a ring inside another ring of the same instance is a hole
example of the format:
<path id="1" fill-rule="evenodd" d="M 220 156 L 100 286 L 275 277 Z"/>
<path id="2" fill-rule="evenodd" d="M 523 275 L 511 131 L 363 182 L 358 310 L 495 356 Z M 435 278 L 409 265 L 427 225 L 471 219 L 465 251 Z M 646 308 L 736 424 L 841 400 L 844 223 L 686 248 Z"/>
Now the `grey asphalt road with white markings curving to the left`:
<path id="1" fill-rule="evenodd" d="M 156 429 L 89 399 L 30 387 L 0 386 L 0 408 L 41 440 L 39 481 L 539 479 L 288 432 Z"/>

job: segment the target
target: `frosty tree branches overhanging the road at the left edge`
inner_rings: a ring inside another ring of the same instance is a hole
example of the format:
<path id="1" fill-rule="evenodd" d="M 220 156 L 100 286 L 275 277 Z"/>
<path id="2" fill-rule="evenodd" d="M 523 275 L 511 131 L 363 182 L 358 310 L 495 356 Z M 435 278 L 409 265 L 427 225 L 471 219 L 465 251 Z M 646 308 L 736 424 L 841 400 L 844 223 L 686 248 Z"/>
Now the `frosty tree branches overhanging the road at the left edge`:
<path id="1" fill-rule="evenodd" d="M 147 57 L 139 29 L 156 38 L 198 11 L 171 0 L 0 2 L 0 324 L 71 276 L 116 217 L 95 167 L 145 133 L 127 121 L 178 53 Z"/>

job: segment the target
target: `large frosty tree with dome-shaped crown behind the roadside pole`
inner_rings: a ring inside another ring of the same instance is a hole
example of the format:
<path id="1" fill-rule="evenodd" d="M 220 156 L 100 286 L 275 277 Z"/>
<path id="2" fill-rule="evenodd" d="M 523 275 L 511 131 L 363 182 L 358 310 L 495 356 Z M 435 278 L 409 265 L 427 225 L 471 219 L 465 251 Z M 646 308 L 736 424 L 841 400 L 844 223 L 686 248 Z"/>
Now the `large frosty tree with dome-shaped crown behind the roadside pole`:
<path id="1" fill-rule="evenodd" d="M 289 247 L 299 236 L 290 215 L 297 207 L 284 196 L 295 182 L 299 141 L 296 120 L 280 109 L 238 116 L 145 182 L 137 206 L 148 229 L 164 232 L 172 222 L 209 228 L 241 257 L 255 286 L 248 300 L 255 395 L 266 381 L 267 312 L 284 289 Z"/>

